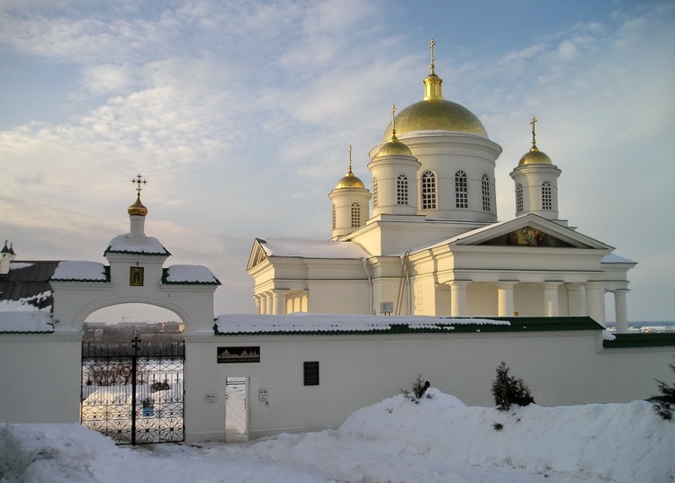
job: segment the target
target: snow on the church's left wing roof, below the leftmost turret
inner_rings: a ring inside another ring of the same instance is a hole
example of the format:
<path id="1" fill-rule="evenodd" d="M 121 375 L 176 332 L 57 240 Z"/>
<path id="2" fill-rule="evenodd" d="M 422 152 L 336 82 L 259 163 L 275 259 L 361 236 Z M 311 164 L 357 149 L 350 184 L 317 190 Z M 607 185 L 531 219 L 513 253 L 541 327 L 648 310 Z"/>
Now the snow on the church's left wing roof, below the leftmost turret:
<path id="1" fill-rule="evenodd" d="M 258 238 L 267 256 L 297 256 L 300 258 L 365 258 L 371 256 L 363 246 L 354 242 Z"/>

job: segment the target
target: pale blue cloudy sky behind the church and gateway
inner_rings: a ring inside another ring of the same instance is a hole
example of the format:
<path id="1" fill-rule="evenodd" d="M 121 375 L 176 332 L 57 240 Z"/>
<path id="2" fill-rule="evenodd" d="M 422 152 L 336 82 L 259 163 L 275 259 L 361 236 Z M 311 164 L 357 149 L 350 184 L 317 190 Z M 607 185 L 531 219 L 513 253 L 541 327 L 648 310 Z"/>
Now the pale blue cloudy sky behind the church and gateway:
<path id="1" fill-rule="evenodd" d="M 253 312 L 254 238 L 330 237 L 349 145 L 369 183 L 431 38 L 446 99 L 503 148 L 499 218 L 536 115 L 561 217 L 639 263 L 629 318 L 675 320 L 668 0 L 0 0 L 0 237 L 103 262 L 142 174 L 167 264 L 211 268 L 216 314 Z"/>

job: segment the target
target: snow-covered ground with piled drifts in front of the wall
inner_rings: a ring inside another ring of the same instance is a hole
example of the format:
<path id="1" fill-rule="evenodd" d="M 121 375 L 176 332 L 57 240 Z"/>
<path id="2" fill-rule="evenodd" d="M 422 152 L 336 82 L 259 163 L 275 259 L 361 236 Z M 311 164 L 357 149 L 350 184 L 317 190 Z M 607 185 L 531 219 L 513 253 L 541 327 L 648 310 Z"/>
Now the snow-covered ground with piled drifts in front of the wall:
<path id="1" fill-rule="evenodd" d="M 0 481 L 534 483 L 675 480 L 675 421 L 650 403 L 465 407 L 428 389 L 336 431 L 251 443 L 114 446 L 81 425 L 0 425 Z M 500 431 L 493 427 L 503 425 Z"/>

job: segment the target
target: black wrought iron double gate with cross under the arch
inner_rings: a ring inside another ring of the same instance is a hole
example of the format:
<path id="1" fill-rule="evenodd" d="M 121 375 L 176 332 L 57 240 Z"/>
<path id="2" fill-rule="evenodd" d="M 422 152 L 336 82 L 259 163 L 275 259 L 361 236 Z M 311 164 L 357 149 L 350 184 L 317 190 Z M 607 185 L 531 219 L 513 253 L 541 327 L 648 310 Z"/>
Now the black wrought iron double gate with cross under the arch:
<path id="1" fill-rule="evenodd" d="M 185 343 L 82 343 L 81 421 L 116 444 L 184 441 Z"/>

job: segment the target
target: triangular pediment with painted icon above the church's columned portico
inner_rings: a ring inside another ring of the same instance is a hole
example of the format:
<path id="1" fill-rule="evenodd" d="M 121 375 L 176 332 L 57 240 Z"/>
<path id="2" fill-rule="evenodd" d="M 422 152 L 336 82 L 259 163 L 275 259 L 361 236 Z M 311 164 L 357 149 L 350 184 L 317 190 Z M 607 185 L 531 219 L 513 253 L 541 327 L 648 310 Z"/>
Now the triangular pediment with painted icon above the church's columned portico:
<path id="1" fill-rule="evenodd" d="M 613 249 L 572 228 L 531 213 L 464 233 L 449 240 L 449 245 Z"/>

